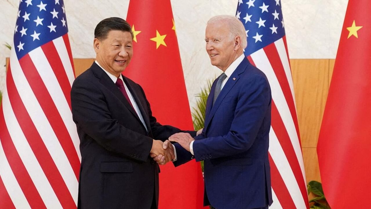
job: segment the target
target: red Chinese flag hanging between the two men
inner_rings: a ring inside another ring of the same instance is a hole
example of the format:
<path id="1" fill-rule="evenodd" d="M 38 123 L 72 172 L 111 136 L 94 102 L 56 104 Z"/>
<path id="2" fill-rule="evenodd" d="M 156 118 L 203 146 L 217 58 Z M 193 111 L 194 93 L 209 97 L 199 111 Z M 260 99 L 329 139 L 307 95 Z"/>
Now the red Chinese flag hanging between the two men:
<path id="1" fill-rule="evenodd" d="M 143 87 L 158 122 L 193 130 L 170 0 L 130 1 L 127 21 L 134 55 L 124 74 Z M 196 161 L 161 166 L 160 209 L 203 208 L 203 193 Z"/>

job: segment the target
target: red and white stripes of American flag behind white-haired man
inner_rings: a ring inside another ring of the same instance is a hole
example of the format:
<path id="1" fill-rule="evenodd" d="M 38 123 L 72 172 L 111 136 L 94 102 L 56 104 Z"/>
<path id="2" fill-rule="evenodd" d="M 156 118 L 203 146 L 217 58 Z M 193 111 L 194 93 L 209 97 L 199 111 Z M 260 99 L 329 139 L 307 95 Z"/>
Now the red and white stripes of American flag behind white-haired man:
<path id="1" fill-rule="evenodd" d="M 269 161 L 273 204 L 270 208 L 309 208 L 285 36 L 247 58 L 266 74 L 272 89 Z"/>

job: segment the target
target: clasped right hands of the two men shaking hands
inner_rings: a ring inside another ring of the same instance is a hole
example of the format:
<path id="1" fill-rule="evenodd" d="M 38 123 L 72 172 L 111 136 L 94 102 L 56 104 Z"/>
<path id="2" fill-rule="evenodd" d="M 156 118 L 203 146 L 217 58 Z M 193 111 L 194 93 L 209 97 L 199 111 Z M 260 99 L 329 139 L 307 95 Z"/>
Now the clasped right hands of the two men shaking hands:
<path id="1" fill-rule="evenodd" d="M 165 165 L 167 162 L 174 160 L 174 147 L 169 140 L 162 142 L 153 140 L 150 156 L 160 165 Z"/>

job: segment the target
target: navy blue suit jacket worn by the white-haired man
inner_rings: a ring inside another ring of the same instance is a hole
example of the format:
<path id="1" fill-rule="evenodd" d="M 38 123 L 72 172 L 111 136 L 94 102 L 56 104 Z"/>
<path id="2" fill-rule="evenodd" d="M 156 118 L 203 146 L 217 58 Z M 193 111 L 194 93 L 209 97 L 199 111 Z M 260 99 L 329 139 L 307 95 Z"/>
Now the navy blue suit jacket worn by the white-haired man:
<path id="1" fill-rule="evenodd" d="M 213 106 L 214 81 L 194 158 L 204 160 L 205 205 L 218 209 L 262 208 L 272 204 L 268 161 L 271 92 L 265 74 L 244 59 Z M 193 158 L 180 145 L 180 165 Z"/>

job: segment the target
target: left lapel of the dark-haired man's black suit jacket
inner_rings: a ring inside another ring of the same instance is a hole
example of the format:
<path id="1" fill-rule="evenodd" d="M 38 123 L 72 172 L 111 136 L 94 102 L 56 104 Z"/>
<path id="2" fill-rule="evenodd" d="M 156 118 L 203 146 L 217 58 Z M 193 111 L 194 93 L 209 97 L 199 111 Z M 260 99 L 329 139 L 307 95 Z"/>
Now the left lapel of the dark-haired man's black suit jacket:
<path id="1" fill-rule="evenodd" d="M 124 104 L 124 106 L 133 114 L 133 116 L 140 121 L 137 113 L 131 107 L 128 100 L 124 97 L 124 95 L 118 89 L 116 84 L 111 80 L 111 78 L 109 78 L 108 75 L 102 70 L 102 68 L 99 67 L 95 62 L 93 62 L 90 68 L 92 68 L 94 75 L 100 79 L 99 82 L 101 82 L 103 86 L 109 89 Z"/>

